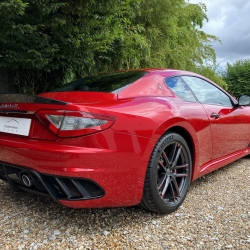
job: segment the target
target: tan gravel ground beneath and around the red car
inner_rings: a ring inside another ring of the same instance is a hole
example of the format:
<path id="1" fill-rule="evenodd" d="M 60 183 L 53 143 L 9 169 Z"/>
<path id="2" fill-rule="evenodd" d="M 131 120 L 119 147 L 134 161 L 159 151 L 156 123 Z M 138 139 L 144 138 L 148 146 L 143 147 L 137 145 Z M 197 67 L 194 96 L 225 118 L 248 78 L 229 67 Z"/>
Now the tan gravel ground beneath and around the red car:
<path id="1" fill-rule="evenodd" d="M 69 209 L 0 181 L 0 249 L 250 249 L 250 158 L 194 181 L 183 205 Z"/>

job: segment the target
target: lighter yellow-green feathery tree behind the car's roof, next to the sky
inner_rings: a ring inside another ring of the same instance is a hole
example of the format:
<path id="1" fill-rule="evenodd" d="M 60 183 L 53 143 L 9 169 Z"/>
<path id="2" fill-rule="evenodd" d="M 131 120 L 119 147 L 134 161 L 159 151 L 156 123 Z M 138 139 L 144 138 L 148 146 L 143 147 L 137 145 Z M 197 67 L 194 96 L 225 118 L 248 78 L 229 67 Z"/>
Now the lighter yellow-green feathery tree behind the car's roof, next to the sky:
<path id="1" fill-rule="evenodd" d="M 184 0 L 142 0 L 124 14 L 120 35 L 96 61 L 108 68 L 168 67 L 194 70 L 216 61 L 211 41 L 201 31 L 207 21 L 204 4 Z"/>

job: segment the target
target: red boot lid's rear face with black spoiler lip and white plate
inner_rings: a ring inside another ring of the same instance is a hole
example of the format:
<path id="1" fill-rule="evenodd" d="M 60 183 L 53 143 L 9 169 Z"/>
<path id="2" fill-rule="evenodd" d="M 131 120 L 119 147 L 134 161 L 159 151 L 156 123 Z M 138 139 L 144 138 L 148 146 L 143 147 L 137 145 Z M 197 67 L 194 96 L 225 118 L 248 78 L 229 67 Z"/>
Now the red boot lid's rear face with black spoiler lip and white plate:
<path id="1" fill-rule="evenodd" d="M 22 94 L 0 94 L 0 134 L 38 140 L 56 140 L 38 118 L 39 110 L 67 109 L 67 102 Z"/>

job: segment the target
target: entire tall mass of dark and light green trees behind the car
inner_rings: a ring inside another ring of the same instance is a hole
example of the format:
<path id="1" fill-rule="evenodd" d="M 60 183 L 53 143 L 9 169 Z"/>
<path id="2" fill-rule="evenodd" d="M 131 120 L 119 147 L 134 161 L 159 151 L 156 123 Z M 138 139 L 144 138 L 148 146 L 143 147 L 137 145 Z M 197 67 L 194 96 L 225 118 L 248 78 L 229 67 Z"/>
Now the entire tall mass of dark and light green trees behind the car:
<path id="1" fill-rule="evenodd" d="M 195 71 L 216 60 L 205 12 L 185 0 L 0 1 L 0 66 L 30 93 L 102 71 Z"/>

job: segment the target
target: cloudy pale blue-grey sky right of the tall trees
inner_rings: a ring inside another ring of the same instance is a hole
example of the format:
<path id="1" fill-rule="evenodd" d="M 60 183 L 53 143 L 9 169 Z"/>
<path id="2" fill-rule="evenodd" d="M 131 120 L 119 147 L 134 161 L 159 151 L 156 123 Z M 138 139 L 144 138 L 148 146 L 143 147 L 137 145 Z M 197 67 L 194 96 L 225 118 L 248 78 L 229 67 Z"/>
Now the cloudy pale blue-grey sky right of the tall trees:
<path id="1" fill-rule="evenodd" d="M 205 3 L 209 21 L 202 30 L 217 36 L 221 41 L 213 43 L 217 62 L 224 68 L 226 63 L 250 59 L 250 0 L 189 0 Z"/>

